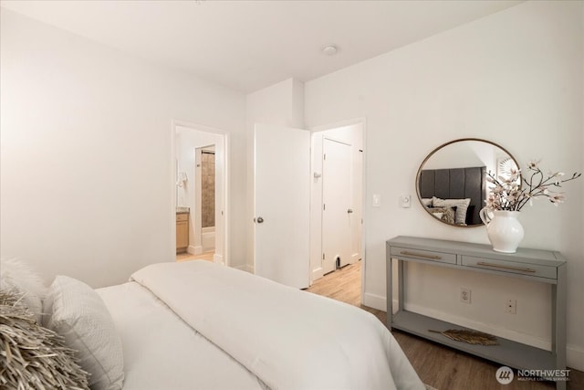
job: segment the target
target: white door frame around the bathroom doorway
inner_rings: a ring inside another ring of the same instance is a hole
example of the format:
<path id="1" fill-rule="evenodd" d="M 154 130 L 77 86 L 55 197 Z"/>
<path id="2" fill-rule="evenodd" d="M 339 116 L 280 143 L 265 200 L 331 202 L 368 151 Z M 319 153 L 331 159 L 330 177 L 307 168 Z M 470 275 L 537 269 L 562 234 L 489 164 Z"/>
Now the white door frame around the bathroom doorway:
<path id="1" fill-rule="evenodd" d="M 172 220 L 171 223 L 171 248 L 172 250 L 172 258 L 176 257 L 176 206 L 177 206 L 177 200 L 176 200 L 176 196 L 177 196 L 177 189 L 176 189 L 176 159 L 177 159 L 177 145 L 176 145 L 176 134 L 177 134 L 177 127 L 186 127 L 186 128 L 190 128 L 193 129 L 193 131 L 199 131 L 199 132 L 210 132 L 210 133 L 214 133 L 217 135 L 221 135 L 223 137 L 224 140 L 224 185 L 223 185 L 223 199 L 224 199 L 224 205 L 223 205 L 223 257 L 222 258 L 216 258 L 214 257 L 214 262 L 218 262 L 221 264 L 224 264 L 226 266 L 229 266 L 231 263 L 231 257 L 230 257 L 230 250 L 229 250 L 229 231 L 230 231 L 230 210 L 229 210 L 229 183 L 231 182 L 231 176 L 230 176 L 230 134 L 229 132 L 225 132 L 224 130 L 221 129 L 216 129 L 214 127 L 210 127 L 210 126 L 205 126 L 203 124 L 199 124 L 199 123 L 193 123 L 190 121 L 183 121 L 183 120 L 177 120 L 177 119 L 173 119 L 172 123 L 171 123 L 171 182 L 170 183 L 170 188 L 171 188 L 171 210 L 169 210 L 169 216 L 170 219 Z M 216 202 L 216 201 L 215 201 Z M 215 230 L 215 234 L 217 234 L 216 230 Z M 215 238 L 215 242 L 216 242 L 216 238 Z"/>

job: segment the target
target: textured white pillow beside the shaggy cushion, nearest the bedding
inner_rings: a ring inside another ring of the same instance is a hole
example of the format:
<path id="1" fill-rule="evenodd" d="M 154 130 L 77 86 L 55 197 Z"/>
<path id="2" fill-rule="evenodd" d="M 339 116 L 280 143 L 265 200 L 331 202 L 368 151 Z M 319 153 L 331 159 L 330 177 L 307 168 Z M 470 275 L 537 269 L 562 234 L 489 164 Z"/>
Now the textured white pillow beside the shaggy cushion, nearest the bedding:
<path id="1" fill-rule="evenodd" d="M 46 326 L 65 338 L 87 371 L 92 390 L 119 390 L 123 384 L 120 335 L 110 311 L 95 290 L 66 276 L 57 276 L 44 305 Z"/>

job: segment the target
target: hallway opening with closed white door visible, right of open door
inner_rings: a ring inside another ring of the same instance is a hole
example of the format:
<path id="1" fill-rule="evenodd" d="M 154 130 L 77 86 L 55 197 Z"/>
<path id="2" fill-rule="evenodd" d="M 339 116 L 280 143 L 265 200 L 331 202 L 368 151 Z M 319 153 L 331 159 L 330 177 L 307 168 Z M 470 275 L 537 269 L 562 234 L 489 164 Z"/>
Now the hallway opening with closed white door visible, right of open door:
<path id="1" fill-rule="evenodd" d="M 312 132 L 311 281 L 364 259 L 363 138 L 360 120 Z"/>

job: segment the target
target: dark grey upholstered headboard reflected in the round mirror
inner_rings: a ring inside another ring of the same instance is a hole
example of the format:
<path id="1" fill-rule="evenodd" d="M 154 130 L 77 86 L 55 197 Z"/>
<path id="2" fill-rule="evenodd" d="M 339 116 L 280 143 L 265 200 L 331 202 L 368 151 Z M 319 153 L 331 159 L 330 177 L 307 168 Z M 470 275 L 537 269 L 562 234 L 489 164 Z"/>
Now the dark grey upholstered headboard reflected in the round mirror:
<path id="1" fill-rule="evenodd" d="M 466 213 L 466 225 L 481 225 L 479 212 L 485 206 L 486 167 L 423 169 L 420 173 L 420 195 L 442 199 L 471 200 Z"/>

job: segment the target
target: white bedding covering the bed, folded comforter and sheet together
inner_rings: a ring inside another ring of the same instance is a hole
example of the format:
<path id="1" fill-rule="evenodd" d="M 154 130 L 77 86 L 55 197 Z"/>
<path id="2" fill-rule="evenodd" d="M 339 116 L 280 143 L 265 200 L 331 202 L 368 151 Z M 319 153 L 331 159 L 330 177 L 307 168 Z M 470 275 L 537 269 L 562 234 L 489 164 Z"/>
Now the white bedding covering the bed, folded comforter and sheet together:
<path id="1" fill-rule="evenodd" d="M 124 389 L 425 388 L 367 311 L 206 261 L 132 279 L 98 290 L 121 335 Z"/>

